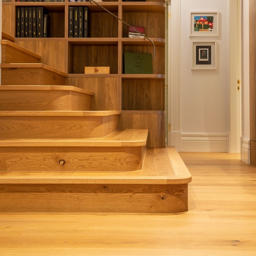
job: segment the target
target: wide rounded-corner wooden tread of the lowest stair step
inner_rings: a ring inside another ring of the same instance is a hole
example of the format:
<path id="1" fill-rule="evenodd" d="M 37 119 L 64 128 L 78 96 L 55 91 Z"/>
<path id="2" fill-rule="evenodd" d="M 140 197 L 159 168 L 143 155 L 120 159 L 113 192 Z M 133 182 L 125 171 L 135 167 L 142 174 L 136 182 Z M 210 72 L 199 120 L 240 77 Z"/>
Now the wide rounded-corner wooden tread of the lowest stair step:
<path id="1" fill-rule="evenodd" d="M 163 163 L 164 162 L 164 163 Z M 0 172 L 0 184 L 186 184 L 191 174 L 177 150 L 147 148 L 142 170 L 129 172 Z"/>

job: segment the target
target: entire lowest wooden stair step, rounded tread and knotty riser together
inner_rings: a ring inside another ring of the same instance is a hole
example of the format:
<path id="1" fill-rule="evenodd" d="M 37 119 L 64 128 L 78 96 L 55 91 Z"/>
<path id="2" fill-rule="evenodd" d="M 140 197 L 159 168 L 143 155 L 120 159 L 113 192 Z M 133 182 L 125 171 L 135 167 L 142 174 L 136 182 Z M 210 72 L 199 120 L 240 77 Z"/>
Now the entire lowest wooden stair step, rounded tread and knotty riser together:
<path id="1" fill-rule="evenodd" d="M 190 181 L 174 147 L 147 148 L 138 171 L 0 172 L 0 212 L 185 212 Z"/>

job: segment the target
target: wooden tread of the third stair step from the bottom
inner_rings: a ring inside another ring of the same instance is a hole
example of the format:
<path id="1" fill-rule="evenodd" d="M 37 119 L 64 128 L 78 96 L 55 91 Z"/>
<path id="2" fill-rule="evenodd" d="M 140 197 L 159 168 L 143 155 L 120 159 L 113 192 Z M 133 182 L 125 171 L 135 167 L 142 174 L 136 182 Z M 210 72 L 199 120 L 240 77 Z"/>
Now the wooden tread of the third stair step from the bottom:
<path id="1" fill-rule="evenodd" d="M 119 115 L 119 110 L 107 111 L 0 111 L 0 116 L 111 116 Z"/>

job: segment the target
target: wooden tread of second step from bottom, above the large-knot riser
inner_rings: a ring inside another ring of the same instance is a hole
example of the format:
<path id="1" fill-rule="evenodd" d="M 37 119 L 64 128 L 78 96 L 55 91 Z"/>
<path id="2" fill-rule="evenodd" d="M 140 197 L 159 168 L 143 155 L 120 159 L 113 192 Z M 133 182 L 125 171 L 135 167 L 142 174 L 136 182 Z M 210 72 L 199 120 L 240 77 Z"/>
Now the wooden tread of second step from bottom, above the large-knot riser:
<path id="1" fill-rule="evenodd" d="M 0 147 L 139 147 L 147 137 L 148 130 L 117 130 L 96 139 L 0 139 Z"/>

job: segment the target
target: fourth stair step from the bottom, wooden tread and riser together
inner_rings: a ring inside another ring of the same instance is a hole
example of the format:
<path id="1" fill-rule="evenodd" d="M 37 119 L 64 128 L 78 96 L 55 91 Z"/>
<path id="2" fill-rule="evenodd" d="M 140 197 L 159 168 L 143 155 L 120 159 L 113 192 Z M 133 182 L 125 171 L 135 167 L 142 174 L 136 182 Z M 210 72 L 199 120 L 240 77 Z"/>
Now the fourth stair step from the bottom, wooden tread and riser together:
<path id="1" fill-rule="evenodd" d="M 1 85 L 0 111 L 92 110 L 93 96 L 75 86 Z"/>

